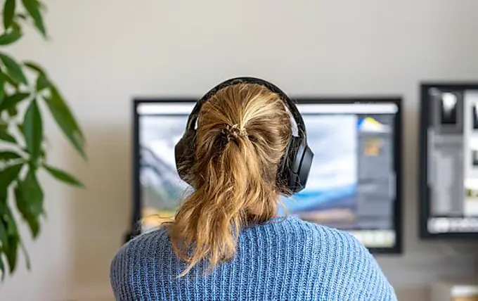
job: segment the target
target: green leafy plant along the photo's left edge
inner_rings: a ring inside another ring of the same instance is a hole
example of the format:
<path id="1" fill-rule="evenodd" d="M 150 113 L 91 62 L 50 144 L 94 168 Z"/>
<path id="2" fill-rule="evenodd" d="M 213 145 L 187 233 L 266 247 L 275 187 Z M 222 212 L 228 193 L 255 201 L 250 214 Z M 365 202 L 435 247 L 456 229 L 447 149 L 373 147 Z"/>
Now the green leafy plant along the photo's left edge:
<path id="1" fill-rule="evenodd" d="M 46 160 L 43 120 L 52 117 L 79 155 L 86 160 L 84 134 L 58 87 L 44 68 L 19 61 L 8 46 L 23 37 L 32 25 L 45 40 L 46 6 L 39 0 L 2 0 L 3 32 L 0 30 L 0 274 L 13 274 L 19 252 L 30 260 L 18 231 L 26 222 L 33 238 L 44 217 L 44 191 L 37 173 L 42 169 L 67 184 L 82 187 L 71 174 Z M 21 220 L 15 219 L 18 211 Z"/>

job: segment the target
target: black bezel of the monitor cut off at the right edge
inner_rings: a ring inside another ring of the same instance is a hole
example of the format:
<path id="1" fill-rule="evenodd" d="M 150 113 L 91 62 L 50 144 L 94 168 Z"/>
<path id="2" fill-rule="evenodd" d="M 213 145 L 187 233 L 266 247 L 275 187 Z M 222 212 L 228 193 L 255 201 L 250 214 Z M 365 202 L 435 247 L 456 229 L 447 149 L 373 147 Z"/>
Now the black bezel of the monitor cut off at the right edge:
<path id="1" fill-rule="evenodd" d="M 429 126 L 429 101 L 427 91 L 432 88 L 447 91 L 478 90 L 478 82 L 422 82 L 420 83 L 420 134 L 419 134 L 419 235 L 425 240 L 478 240 L 478 232 L 449 232 L 430 233 L 428 231 L 428 219 L 430 214 L 430 193 L 428 183 L 428 126 Z"/>

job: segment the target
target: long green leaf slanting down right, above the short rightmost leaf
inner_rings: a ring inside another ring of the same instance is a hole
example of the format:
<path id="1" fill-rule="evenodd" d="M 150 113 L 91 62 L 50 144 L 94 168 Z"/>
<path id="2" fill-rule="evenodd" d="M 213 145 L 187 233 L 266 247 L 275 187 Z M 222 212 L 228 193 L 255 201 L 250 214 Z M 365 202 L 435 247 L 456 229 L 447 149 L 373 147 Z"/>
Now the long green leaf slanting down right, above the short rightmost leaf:
<path id="1" fill-rule="evenodd" d="M 51 115 L 53 115 L 56 123 L 65 136 L 67 136 L 67 139 L 70 140 L 70 143 L 72 143 L 78 153 L 86 160 L 86 153 L 84 151 L 85 141 L 82 130 L 79 128 L 70 108 L 68 108 L 68 105 L 56 87 L 51 85 L 50 91 L 51 97 L 45 97 L 45 101 Z"/>

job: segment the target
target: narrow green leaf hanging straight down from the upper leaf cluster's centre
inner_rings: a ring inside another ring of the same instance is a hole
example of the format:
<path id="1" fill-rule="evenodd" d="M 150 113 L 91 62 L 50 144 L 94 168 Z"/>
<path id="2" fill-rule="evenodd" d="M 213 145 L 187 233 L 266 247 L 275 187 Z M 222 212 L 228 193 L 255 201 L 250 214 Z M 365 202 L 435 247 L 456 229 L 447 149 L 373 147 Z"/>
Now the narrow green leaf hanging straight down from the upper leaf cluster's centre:
<path id="1" fill-rule="evenodd" d="M 41 142 L 43 141 L 43 123 L 35 99 L 30 103 L 25 113 L 23 135 L 27 143 L 27 152 L 30 153 L 33 164 L 36 165 L 41 151 Z"/>

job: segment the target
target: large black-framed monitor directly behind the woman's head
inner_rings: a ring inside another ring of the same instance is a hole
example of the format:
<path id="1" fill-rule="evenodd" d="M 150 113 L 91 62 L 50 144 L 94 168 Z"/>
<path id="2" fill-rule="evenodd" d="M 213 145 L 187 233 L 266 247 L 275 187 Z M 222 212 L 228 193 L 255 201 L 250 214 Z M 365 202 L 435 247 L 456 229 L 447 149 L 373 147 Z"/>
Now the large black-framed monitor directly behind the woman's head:
<path id="1" fill-rule="evenodd" d="M 174 145 L 194 104 L 135 101 L 133 222 L 142 229 L 171 217 L 190 191 Z M 278 214 L 349 231 L 372 252 L 401 252 L 401 100 L 302 98 L 297 108 L 315 156 L 306 188 L 283 197 Z"/>

